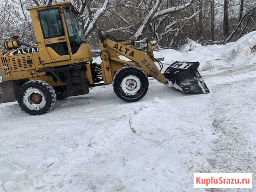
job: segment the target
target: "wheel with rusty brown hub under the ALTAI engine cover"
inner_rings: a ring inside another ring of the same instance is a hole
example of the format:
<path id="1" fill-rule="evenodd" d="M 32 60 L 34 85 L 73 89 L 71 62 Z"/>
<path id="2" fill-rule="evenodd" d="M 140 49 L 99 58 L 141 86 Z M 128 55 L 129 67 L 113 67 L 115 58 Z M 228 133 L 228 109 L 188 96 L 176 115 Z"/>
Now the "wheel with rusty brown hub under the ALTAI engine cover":
<path id="1" fill-rule="evenodd" d="M 20 87 L 18 104 L 28 114 L 45 114 L 53 109 L 55 102 L 54 88 L 44 81 L 32 80 Z"/>

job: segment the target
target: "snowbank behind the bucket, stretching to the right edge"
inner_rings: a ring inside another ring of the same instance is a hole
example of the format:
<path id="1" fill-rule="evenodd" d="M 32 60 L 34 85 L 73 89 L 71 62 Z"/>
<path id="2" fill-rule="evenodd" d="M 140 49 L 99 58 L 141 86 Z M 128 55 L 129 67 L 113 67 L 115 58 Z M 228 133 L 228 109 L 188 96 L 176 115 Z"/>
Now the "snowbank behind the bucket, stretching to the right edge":
<path id="1" fill-rule="evenodd" d="M 192 41 L 191 41 L 192 42 Z M 164 69 L 175 61 L 200 62 L 198 71 L 209 88 L 218 84 L 238 82 L 256 76 L 256 32 L 251 32 L 237 42 L 225 45 L 194 45 L 193 50 L 178 52 L 168 49 L 154 52 L 155 58 L 164 57 Z"/>

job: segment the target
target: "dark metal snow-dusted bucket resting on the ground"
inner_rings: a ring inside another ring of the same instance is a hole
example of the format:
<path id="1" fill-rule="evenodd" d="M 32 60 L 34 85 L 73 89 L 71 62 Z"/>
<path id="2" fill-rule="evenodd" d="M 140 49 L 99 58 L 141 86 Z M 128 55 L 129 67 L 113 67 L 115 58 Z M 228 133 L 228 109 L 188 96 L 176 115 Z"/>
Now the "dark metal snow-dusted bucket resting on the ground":
<path id="1" fill-rule="evenodd" d="M 172 87 L 186 93 L 210 93 L 197 68 L 199 62 L 178 62 L 171 64 L 164 76 L 172 82 Z"/>

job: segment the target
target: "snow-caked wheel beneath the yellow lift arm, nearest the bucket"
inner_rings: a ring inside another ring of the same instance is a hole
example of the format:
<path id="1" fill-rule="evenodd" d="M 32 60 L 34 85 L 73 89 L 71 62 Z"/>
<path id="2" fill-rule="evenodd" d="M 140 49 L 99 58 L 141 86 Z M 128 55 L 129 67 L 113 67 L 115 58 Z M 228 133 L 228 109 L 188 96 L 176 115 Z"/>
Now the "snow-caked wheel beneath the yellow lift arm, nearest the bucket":
<path id="1" fill-rule="evenodd" d="M 126 102 L 138 101 L 148 91 L 148 77 L 138 67 L 123 67 L 114 76 L 113 89 L 116 96 Z"/>

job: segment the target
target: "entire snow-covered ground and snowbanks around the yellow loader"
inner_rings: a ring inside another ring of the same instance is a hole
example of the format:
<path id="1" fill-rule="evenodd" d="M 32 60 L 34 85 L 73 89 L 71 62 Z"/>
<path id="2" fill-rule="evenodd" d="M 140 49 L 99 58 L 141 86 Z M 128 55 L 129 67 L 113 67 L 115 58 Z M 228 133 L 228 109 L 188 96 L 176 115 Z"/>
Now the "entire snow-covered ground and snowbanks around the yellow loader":
<path id="1" fill-rule="evenodd" d="M 190 192 L 194 172 L 256 172 L 256 32 L 236 43 L 181 53 L 200 61 L 210 94 L 153 79 L 135 103 L 112 86 L 56 103 L 43 116 L 0 104 L 0 192 Z M 134 132 L 134 131 L 135 132 Z"/>

